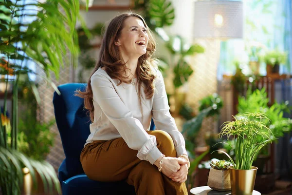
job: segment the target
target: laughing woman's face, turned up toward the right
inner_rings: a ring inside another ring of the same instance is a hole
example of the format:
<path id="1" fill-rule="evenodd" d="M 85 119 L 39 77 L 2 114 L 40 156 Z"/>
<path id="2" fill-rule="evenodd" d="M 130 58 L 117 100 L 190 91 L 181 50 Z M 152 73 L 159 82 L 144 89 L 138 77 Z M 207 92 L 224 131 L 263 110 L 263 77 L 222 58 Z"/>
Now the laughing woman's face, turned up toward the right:
<path id="1" fill-rule="evenodd" d="M 128 17 L 124 21 L 120 37 L 115 42 L 123 57 L 140 58 L 146 53 L 147 44 L 148 34 L 143 21 L 137 17 Z"/>

